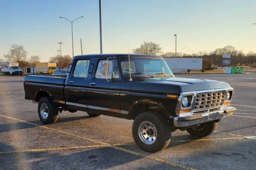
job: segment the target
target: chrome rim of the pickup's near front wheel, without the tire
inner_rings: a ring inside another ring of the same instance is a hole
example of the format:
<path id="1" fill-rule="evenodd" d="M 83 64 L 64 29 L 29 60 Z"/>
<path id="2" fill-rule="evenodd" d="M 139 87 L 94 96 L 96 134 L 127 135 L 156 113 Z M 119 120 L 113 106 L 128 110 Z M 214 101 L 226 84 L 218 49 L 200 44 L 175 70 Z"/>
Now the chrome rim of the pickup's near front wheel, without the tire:
<path id="1" fill-rule="evenodd" d="M 140 139 L 145 144 L 153 144 L 156 141 L 157 131 L 155 126 L 150 122 L 142 122 L 139 126 Z"/>

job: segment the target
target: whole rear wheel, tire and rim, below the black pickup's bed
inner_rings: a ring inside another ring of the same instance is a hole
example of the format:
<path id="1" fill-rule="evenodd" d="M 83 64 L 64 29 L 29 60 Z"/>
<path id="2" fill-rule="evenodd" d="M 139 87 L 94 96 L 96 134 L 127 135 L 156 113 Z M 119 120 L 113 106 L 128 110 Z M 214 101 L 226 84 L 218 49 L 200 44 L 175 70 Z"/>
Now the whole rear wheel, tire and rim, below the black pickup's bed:
<path id="1" fill-rule="evenodd" d="M 50 97 L 40 99 L 38 103 L 38 116 L 43 124 L 53 124 L 58 119 L 58 107 Z"/>

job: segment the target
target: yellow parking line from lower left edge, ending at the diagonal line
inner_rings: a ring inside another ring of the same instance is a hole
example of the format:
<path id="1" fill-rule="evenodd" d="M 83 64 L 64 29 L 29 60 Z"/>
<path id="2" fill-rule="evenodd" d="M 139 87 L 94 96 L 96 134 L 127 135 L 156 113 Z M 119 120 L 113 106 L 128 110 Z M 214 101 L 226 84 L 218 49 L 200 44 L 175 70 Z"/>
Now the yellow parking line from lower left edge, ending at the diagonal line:
<path id="1" fill-rule="evenodd" d="M 89 146 L 55 147 L 55 148 L 45 148 L 45 149 L 13 150 L 13 151 L 3 151 L 3 152 L 0 152 L 0 154 L 21 153 L 21 152 L 45 152 L 45 151 L 53 151 L 53 150 L 83 149 L 83 148 L 95 148 L 95 147 L 106 147 L 106 145 L 89 145 Z"/>

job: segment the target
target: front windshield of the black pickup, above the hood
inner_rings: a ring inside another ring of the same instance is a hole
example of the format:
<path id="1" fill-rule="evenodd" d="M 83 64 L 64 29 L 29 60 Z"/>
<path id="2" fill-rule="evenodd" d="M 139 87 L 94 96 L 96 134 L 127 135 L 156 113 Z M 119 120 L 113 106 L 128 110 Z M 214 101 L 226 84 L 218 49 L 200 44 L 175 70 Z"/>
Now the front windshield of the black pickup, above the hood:
<path id="1" fill-rule="evenodd" d="M 120 58 L 124 77 L 130 77 L 129 59 Z M 173 73 L 163 58 L 133 58 L 130 57 L 131 76 L 173 76 Z"/>

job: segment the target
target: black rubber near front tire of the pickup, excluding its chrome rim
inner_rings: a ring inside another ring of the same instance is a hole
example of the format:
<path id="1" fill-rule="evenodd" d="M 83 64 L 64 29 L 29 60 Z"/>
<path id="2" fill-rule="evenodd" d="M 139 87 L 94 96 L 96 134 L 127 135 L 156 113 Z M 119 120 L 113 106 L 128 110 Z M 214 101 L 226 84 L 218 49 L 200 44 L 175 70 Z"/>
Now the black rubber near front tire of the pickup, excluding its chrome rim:
<path id="1" fill-rule="evenodd" d="M 152 144 L 146 144 L 140 138 L 139 127 L 145 121 L 153 124 L 157 131 L 155 142 Z M 169 145 L 171 141 L 171 128 L 167 119 L 161 113 L 149 111 L 141 113 L 135 118 L 132 125 L 132 135 L 135 143 L 141 150 L 155 153 Z"/>

